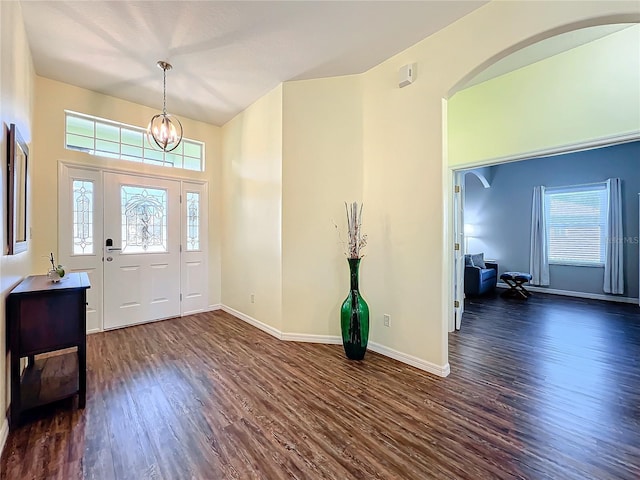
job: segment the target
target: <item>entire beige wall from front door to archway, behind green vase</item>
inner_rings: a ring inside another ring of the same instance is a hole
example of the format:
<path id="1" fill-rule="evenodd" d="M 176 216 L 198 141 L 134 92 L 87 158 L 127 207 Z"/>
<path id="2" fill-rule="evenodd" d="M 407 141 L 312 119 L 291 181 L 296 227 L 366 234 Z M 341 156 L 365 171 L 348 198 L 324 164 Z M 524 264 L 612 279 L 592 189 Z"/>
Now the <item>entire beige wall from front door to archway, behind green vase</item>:
<path id="1" fill-rule="evenodd" d="M 332 224 L 344 225 L 344 200 L 364 200 L 369 246 L 361 287 L 371 307 L 370 340 L 446 374 L 452 174 L 445 99 L 517 48 L 578 26 L 637 17 L 633 2 L 492 2 L 362 75 L 287 82 L 280 157 L 277 140 L 256 130 L 261 122 L 273 131 L 278 94 L 256 102 L 223 129 L 223 303 L 293 337 L 335 339 L 348 270 Z M 398 69 L 414 62 L 416 82 L 399 89 Z M 269 195 L 255 195 L 246 178 L 265 165 L 274 174 L 281 168 L 281 272 L 275 266 L 278 233 L 271 229 L 277 219 L 269 213 L 278 202 L 277 180 L 270 180 Z M 269 207 L 256 208 L 267 208 L 264 218 L 272 219 L 260 229 L 263 223 L 251 225 L 253 214 L 245 210 L 258 197 Z M 263 229 L 268 252 L 258 258 L 259 247 L 247 242 Z M 243 251 L 246 260 L 236 258 Z M 273 305 L 259 306 L 258 296 L 255 305 L 248 303 L 265 278 L 281 281 L 280 317 Z M 382 326 L 385 313 L 391 327 Z"/>

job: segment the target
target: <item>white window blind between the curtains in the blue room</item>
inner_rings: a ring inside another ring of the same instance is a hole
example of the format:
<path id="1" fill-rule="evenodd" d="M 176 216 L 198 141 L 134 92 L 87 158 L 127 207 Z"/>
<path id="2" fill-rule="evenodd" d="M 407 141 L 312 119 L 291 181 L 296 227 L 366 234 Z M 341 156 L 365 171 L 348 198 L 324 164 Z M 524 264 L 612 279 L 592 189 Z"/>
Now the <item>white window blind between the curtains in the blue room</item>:
<path id="1" fill-rule="evenodd" d="M 606 183 L 547 189 L 545 210 L 550 263 L 604 264 Z"/>

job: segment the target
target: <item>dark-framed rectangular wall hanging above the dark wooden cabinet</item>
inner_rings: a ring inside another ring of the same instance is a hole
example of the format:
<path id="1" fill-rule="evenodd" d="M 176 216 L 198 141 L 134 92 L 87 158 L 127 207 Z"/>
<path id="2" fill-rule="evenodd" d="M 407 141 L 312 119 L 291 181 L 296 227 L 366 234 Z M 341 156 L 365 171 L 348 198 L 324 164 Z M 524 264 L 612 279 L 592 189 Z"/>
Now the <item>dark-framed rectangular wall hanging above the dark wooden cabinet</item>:
<path id="1" fill-rule="evenodd" d="M 8 254 L 27 250 L 27 162 L 29 149 L 15 124 L 7 138 L 7 240 Z"/>

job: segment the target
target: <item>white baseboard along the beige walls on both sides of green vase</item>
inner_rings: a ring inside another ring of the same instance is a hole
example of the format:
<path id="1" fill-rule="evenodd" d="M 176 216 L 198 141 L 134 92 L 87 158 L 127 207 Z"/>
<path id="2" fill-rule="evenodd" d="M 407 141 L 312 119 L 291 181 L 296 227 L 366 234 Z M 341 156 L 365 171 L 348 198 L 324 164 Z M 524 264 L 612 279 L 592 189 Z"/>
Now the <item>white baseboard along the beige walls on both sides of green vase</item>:
<path id="1" fill-rule="evenodd" d="M 307 333 L 283 333 L 280 330 L 267 325 L 259 320 L 256 320 L 249 315 L 245 315 L 242 312 L 239 312 L 231 307 L 227 307 L 226 305 L 221 306 L 222 310 L 233 315 L 234 317 L 242 320 L 243 322 L 248 323 L 249 325 L 253 325 L 254 327 L 262 330 L 263 332 L 268 333 L 276 337 L 278 340 L 285 340 L 289 342 L 309 342 L 309 343 L 322 343 L 329 345 L 341 345 L 342 338 L 336 335 L 312 335 Z M 369 342 L 368 349 L 372 352 L 379 353 L 380 355 L 384 355 L 385 357 L 393 358 L 401 363 L 406 363 L 407 365 L 411 365 L 412 367 L 416 367 L 420 370 L 424 370 L 425 372 L 432 373 L 439 377 L 446 377 L 450 373 L 449 364 L 445 365 L 436 365 L 435 363 L 427 362 L 426 360 L 422 360 L 418 357 L 414 357 L 412 355 L 408 355 L 406 353 L 399 352 L 389 347 L 385 347 L 384 345 L 380 345 L 379 343 Z"/>

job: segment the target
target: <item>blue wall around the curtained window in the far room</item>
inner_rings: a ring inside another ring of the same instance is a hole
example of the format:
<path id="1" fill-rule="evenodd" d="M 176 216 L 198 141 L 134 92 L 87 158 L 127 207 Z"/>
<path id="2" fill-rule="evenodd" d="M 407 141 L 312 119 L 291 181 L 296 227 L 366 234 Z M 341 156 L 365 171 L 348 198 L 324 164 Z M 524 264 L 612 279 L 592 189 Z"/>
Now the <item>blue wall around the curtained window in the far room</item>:
<path id="1" fill-rule="evenodd" d="M 626 297 L 638 297 L 640 142 L 491 167 L 490 188 L 465 178 L 465 224 L 474 227 L 468 251 L 496 259 L 500 272 L 529 271 L 533 187 L 622 179 Z M 603 294 L 604 267 L 550 265 L 549 288 Z"/>

